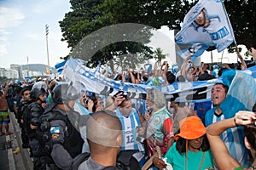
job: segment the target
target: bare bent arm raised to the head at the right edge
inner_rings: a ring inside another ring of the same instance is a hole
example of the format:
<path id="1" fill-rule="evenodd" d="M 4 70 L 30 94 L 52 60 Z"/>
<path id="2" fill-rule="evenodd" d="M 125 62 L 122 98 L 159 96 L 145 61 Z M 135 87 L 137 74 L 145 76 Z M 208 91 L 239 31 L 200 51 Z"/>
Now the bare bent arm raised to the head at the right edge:
<path id="1" fill-rule="evenodd" d="M 256 111 L 256 105 L 253 106 L 253 111 Z M 227 169 L 256 169 L 256 116 L 252 111 L 238 111 L 235 117 L 225 119 L 223 121 L 215 122 L 207 127 L 207 137 L 212 150 L 212 155 L 216 161 L 219 170 Z M 232 156 L 230 156 L 224 142 L 219 135 L 228 128 L 244 126 L 245 145 L 252 154 L 252 166 L 249 168 L 242 167 Z"/>

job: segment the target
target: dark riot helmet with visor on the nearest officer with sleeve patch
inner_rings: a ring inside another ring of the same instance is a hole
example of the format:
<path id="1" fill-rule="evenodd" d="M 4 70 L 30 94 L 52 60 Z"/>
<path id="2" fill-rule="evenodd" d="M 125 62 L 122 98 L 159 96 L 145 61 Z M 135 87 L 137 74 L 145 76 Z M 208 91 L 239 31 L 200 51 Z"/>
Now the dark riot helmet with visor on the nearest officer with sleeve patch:
<path id="1" fill-rule="evenodd" d="M 61 83 L 57 85 L 52 91 L 52 100 L 56 104 L 64 104 L 70 100 L 79 99 L 79 92 L 75 87 L 67 83 Z"/>

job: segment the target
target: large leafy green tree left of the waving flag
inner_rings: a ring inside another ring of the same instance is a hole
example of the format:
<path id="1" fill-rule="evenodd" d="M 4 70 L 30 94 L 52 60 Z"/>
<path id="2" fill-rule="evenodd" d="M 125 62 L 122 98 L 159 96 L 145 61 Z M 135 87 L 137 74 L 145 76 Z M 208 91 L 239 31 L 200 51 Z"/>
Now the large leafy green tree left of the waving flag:
<path id="1" fill-rule="evenodd" d="M 62 41 L 67 41 L 68 47 L 72 48 L 72 56 L 91 56 L 80 49 L 86 44 L 87 47 L 95 48 L 104 39 L 94 39 L 91 37 L 87 42 L 81 40 L 92 32 L 104 26 L 111 26 L 119 23 L 138 23 L 154 28 L 169 25 L 170 28 L 179 28 L 181 20 L 176 20 L 179 15 L 183 20 L 184 14 L 191 5 L 189 1 L 134 1 L 134 0 L 71 0 L 73 11 L 65 15 L 64 20 L 60 21 L 61 31 L 63 32 Z M 175 16 L 175 17 L 174 17 Z M 170 23 L 172 23 L 170 25 Z M 127 29 L 127 28 L 125 28 Z M 124 42 L 127 37 L 123 37 L 122 42 L 115 42 L 107 47 L 100 48 L 88 60 L 87 65 L 96 66 L 98 61 L 102 65 L 110 59 L 116 59 L 119 55 L 137 54 L 144 59 L 152 58 L 153 51 L 146 45 L 152 36 L 149 28 L 143 28 L 140 34 L 131 32 L 133 35 L 140 36 L 143 43 Z M 108 33 L 107 33 L 108 34 Z M 106 35 L 105 35 L 106 36 Z M 111 35 L 107 35 L 111 39 Z M 89 44 L 88 44 L 89 43 Z M 141 59 L 138 59 L 141 60 Z M 134 61 L 134 60 L 131 60 Z M 112 63 L 119 63 L 112 61 Z M 131 63 L 131 62 L 128 62 Z M 112 64 L 113 65 L 113 64 Z M 131 65 L 133 67 L 134 65 Z"/>

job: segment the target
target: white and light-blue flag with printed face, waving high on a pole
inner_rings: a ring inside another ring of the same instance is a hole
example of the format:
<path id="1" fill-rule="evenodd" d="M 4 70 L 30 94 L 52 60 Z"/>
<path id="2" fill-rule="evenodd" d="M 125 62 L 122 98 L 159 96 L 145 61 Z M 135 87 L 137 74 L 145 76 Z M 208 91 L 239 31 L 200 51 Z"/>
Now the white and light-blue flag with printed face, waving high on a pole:
<path id="1" fill-rule="evenodd" d="M 189 48 L 179 52 L 183 58 L 192 54 L 194 57 L 200 56 L 210 46 L 221 52 L 234 40 L 234 32 L 221 0 L 202 0 L 196 3 L 186 14 L 182 29 L 175 36 L 177 44 L 193 44 L 193 53 Z M 198 49 L 201 51 L 196 52 Z"/>

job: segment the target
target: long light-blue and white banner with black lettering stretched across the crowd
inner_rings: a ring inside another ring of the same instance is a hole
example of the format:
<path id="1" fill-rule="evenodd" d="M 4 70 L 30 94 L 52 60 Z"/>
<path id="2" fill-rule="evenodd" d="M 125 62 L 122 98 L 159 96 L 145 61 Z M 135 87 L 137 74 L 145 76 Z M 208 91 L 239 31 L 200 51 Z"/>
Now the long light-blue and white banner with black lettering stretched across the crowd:
<path id="1" fill-rule="evenodd" d="M 247 72 L 247 73 L 245 73 Z M 239 74 L 238 74 L 239 73 Z M 211 90 L 216 82 L 223 82 L 222 77 L 209 81 L 200 82 L 175 82 L 172 85 L 154 87 L 143 84 L 132 84 L 129 82 L 114 81 L 108 77 L 105 77 L 98 71 L 91 70 L 84 66 L 78 59 L 68 59 L 62 74 L 66 78 L 67 82 L 73 82 L 79 89 L 87 90 L 96 94 L 111 95 L 123 91 L 131 99 L 146 99 L 147 90 L 149 88 L 159 88 L 160 91 L 165 94 L 167 101 L 179 101 L 179 102 L 202 102 L 211 100 Z M 243 74 L 247 74 L 247 78 L 256 77 L 256 67 L 251 67 L 246 71 L 236 71 L 236 75 L 242 77 Z M 235 76 L 234 76 L 235 77 Z M 251 87 L 244 90 L 250 91 L 256 89 L 255 83 L 251 81 L 245 81 L 241 84 L 238 81 L 236 88 Z M 247 82 L 247 84 L 246 84 Z M 254 82 L 254 79 L 253 79 Z M 241 90 L 240 90 L 241 91 Z M 236 89 L 232 90 L 232 95 L 236 96 Z M 246 94 L 245 91 L 241 91 L 242 94 Z M 247 95 L 244 95 L 244 97 Z M 250 95 L 252 96 L 252 95 Z M 256 97 L 256 93 L 255 93 Z M 254 100 L 253 100 L 254 102 Z"/>

